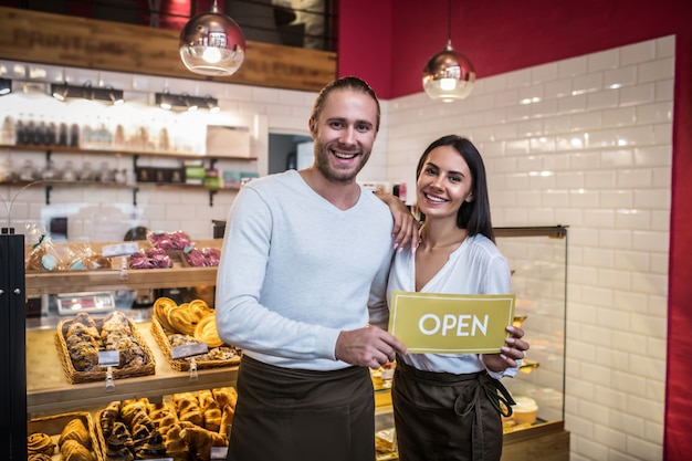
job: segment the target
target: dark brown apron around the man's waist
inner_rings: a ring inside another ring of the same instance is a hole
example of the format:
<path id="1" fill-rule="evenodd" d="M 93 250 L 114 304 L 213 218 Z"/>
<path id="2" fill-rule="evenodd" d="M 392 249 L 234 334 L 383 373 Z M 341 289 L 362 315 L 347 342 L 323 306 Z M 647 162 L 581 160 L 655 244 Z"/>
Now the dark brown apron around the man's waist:
<path id="1" fill-rule="evenodd" d="M 371 461 L 375 402 L 367 368 L 282 368 L 244 356 L 228 461 Z"/>

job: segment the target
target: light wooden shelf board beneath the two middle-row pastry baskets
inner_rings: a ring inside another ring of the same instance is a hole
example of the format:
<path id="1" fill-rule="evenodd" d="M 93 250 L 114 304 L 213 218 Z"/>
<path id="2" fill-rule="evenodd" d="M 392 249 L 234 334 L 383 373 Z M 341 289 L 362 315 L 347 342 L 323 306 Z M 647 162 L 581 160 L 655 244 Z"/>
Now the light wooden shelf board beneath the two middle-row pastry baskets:
<path id="1" fill-rule="evenodd" d="M 115 380 L 113 391 L 104 383 L 70 384 L 55 347 L 55 329 L 27 332 L 27 412 L 30 416 L 74 411 L 137 397 L 160 398 L 187 390 L 211 389 L 235 383 L 238 367 L 198 370 L 197 380 L 188 371 L 174 370 L 150 332 L 151 323 L 137 324 L 154 359 L 150 376 Z"/>

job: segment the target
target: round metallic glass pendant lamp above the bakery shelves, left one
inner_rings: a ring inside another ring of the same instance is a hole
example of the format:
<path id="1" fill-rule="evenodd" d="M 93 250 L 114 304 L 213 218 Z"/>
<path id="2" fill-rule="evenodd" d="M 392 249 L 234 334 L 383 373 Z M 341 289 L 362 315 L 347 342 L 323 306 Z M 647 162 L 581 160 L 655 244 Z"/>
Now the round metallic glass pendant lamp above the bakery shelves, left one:
<path id="1" fill-rule="evenodd" d="M 243 31 L 219 12 L 217 0 L 209 12 L 192 17 L 180 32 L 180 59 L 196 74 L 231 75 L 244 57 Z"/>

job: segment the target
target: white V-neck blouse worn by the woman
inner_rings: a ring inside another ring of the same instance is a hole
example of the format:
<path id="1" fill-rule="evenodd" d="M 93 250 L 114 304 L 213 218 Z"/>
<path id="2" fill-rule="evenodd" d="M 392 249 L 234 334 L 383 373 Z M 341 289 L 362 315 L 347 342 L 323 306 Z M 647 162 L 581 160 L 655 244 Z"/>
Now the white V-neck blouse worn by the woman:
<path id="1" fill-rule="evenodd" d="M 495 244 L 483 234 L 465 239 L 442 269 L 422 287 L 421 293 L 506 294 L 510 293 L 510 268 Z M 388 300 L 395 290 L 416 291 L 416 256 L 410 251 L 397 253 L 389 275 Z M 475 354 L 409 354 L 403 362 L 422 370 L 457 375 L 485 369 Z M 494 378 L 514 376 L 517 368 L 493 373 Z"/>

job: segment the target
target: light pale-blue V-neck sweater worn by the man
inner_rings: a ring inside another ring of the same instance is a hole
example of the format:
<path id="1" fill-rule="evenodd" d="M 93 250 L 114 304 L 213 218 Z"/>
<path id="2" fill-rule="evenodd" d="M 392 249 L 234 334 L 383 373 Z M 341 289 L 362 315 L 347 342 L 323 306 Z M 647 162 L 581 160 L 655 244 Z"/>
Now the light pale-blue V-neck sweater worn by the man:
<path id="1" fill-rule="evenodd" d="M 388 322 L 392 226 L 388 207 L 364 188 L 339 210 L 295 170 L 249 182 L 226 226 L 219 336 L 271 365 L 346 367 L 334 356 L 339 332 Z"/>

